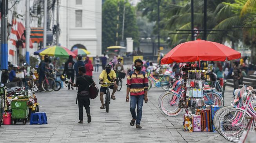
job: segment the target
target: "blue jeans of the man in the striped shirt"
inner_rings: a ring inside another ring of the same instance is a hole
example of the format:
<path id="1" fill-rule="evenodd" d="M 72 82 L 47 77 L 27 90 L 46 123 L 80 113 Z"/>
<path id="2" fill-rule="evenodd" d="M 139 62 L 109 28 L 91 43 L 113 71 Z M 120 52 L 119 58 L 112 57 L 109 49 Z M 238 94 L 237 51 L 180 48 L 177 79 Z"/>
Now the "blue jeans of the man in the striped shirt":
<path id="1" fill-rule="evenodd" d="M 144 95 L 134 96 L 131 95 L 130 111 L 133 119 L 136 119 L 136 125 L 140 125 L 140 120 L 142 119 L 142 106 L 143 106 Z M 137 116 L 136 108 L 137 105 Z"/>

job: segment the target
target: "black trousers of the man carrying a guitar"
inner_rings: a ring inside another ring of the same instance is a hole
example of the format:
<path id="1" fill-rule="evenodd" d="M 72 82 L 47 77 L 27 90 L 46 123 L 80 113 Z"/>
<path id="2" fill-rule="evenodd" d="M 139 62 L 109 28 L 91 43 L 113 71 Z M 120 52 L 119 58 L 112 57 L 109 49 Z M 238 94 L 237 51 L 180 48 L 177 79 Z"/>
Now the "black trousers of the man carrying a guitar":
<path id="1" fill-rule="evenodd" d="M 83 109 L 85 107 L 86 114 L 90 113 L 90 98 L 88 96 L 79 96 L 78 95 L 78 109 L 79 109 L 79 120 L 83 120 Z"/>

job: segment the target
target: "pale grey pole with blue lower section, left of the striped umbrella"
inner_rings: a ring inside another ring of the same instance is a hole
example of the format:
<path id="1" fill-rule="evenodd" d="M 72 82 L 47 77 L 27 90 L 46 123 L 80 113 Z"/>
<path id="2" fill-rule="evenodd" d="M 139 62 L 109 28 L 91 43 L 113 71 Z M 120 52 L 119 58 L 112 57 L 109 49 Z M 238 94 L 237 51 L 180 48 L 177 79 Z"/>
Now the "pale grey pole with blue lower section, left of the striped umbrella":
<path id="1" fill-rule="evenodd" d="M 29 29 L 29 0 L 26 0 L 26 21 L 25 21 L 25 29 L 26 29 L 26 63 L 29 64 L 29 39 L 30 39 L 30 29 Z"/>

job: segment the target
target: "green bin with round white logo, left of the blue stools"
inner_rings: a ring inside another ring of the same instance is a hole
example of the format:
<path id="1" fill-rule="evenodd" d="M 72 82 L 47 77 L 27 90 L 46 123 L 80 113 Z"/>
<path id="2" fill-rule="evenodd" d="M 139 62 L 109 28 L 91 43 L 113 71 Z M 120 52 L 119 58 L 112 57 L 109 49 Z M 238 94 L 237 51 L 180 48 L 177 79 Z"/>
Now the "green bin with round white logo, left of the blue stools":
<path id="1" fill-rule="evenodd" d="M 12 120 L 13 124 L 15 124 L 19 119 L 25 123 L 27 123 L 27 118 L 29 114 L 29 107 L 28 107 L 28 99 L 17 99 L 11 102 L 11 110 L 12 110 Z"/>

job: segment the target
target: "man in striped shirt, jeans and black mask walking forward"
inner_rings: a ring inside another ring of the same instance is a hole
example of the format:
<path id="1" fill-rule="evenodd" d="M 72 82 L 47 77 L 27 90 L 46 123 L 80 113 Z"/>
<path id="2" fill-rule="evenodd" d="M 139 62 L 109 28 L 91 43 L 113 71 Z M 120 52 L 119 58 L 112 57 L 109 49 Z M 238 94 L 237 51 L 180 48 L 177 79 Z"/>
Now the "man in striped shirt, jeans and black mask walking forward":
<path id="1" fill-rule="evenodd" d="M 135 70 L 131 71 L 127 76 L 127 90 L 126 90 L 126 102 L 129 102 L 129 93 L 131 96 L 130 111 L 133 119 L 130 125 L 134 126 L 136 121 L 136 128 L 141 129 L 140 120 L 142 119 L 142 106 L 143 100 L 145 103 L 147 99 L 147 88 L 149 87 L 147 74 L 142 71 L 142 60 L 136 59 L 134 61 Z M 136 108 L 137 105 L 137 115 Z"/>

